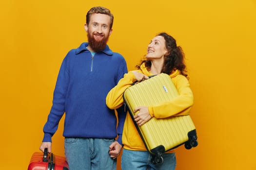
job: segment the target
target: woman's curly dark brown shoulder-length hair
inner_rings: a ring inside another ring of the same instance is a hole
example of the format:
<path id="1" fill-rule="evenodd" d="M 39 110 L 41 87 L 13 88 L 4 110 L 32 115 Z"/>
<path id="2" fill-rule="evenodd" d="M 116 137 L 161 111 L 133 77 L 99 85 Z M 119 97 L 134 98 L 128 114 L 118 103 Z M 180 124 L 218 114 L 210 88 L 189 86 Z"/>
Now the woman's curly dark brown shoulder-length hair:
<path id="1" fill-rule="evenodd" d="M 167 55 L 164 56 L 164 64 L 161 70 L 162 73 L 171 74 L 173 70 L 178 69 L 180 73 L 187 77 L 186 65 L 184 63 L 184 53 L 180 46 L 177 47 L 176 40 L 169 34 L 160 33 L 157 36 L 162 36 L 165 39 L 165 47 L 167 49 Z M 137 65 L 136 68 L 145 63 L 145 66 L 148 70 L 151 68 L 151 61 L 148 59 L 142 60 L 140 65 Z M 187 77 L 188 78 L 188 77 Z"/>

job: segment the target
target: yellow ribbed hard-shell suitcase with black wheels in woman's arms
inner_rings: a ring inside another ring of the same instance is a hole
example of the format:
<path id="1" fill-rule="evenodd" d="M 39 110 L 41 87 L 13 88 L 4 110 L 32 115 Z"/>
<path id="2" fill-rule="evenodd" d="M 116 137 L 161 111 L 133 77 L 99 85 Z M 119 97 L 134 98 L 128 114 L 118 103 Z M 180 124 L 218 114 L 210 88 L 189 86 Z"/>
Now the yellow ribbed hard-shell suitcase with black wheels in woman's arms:
<path id="1" fill-rule="evenodd" d="M 133 112 L 136 107 L 170 101 L 178 95 L 170 76 L 161 73 L 128 87 L 123 98 L 133 119 L 137 114 Z M 154 156 L 153 163 L 162 163 L 162 153 L 166 151 L 183 144 L 186 149 L 191 149 L 198 144 L 196 128 L 189 115 L 167 119 L 153 117 L 142 126 L 138 126 L 135 121 L 134 123 L 146 149 Z"/>

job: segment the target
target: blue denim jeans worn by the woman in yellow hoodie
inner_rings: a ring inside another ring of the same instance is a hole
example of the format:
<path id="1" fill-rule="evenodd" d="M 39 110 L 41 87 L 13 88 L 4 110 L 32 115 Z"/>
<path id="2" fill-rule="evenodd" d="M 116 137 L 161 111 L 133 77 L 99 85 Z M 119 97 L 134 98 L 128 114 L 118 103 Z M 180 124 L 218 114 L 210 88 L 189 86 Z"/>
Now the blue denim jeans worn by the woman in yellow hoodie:
<path id="1" fill-rule="evenodd" d="M 123 149 L 121 158 L 122 170 L 175 170 L 175 153 L 164 153 L 162 164 L 153 164 L 152 155 L 147 151 Z"/>

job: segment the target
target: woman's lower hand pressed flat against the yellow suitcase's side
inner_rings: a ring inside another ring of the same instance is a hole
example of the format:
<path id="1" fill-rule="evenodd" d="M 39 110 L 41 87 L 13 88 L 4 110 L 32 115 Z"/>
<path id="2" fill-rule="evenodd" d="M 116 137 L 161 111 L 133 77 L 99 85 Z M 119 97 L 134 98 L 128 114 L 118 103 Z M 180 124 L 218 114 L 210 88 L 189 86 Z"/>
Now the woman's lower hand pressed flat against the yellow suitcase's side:
<path id="1" fill-rule="evenodd" d="M 134 112 L 137 112 L 137 111 L 138 111 L 138 114 L 134 116 L 134 120 L 137 122 L 139 126 L 142 126 L 152 118 L 149 114 L 148 107 L 146 106 L 139 106 L 135 108 Z"/>

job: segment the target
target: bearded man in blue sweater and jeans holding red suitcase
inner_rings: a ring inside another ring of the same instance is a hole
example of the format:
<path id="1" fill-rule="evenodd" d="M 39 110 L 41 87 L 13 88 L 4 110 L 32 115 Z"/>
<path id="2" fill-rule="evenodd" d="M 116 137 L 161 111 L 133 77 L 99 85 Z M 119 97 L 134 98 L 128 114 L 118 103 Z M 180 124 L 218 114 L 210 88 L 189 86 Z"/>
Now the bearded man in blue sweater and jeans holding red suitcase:
<path id="1" fill-rule="evenodd" d="M 84 25 L 88 43 L 69 51 L 59 70 L 39 149 L 51 152 L 51 137 L 65 112 L 63 136 L 69 170 L 116 170 L 125 112 L 123 107 L 117 110 L 116 128 L 115 111 L 106 106 L 105 99 L 127 73 L 127 66 L 107 45 L 113 19 L 108 9 L 91 8 Z"/>

